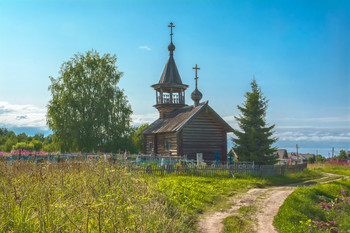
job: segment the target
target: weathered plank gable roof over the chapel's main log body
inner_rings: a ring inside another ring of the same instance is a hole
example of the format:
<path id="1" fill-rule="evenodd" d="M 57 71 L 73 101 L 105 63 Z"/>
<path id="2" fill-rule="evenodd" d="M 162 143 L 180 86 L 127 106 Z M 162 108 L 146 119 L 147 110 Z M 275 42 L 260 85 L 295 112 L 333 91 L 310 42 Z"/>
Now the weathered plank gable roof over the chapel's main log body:
<path id="1" fill-rule="evenodd" d="M 153 122 L 140 134 L 156 134 L 168 132 L 179 133 L 183 128 L 185 128 L 186 125 L 188 125 L 199 113 L 201 113 L 206 108 L 214 113 L 214 116 L 218 118 L 218 121 L 221 122 L 227 132 L 233 131 L 232 127 L 227 124 L 211 107 L 209 107 L 208 101 L 206 101 L 196 107 L 191 105 L 175 110 L 163 119 L 159 118 Z"/>

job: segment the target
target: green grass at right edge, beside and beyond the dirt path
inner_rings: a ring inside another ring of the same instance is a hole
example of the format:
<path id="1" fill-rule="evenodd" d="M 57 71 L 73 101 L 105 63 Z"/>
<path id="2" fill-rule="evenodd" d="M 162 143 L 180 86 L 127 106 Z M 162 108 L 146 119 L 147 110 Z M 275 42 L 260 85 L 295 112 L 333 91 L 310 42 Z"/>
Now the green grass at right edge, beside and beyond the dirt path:
<path id="1" fill-rule="evenodd" d="M 313 171 L 348 175 L 349 166 L 314 165 Z M 299 187 L 279 209 L 274 225 L 287 232 L 349 232 L 350 179 Z"/>

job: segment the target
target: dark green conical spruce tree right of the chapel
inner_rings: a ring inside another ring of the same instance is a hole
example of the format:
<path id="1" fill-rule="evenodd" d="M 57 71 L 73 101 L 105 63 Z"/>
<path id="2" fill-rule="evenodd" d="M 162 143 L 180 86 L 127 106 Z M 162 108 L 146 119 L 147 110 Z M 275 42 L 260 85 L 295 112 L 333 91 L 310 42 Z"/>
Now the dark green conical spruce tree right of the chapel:
<path id="1" fill-rule="evenodd" d="M 251 82 L 251 92 L 245 94 L 243 106 L 237 106 L 241 115 L 235 117 L 241 129 L 234 130 L 235 152 L 241 161 L 255 161 L 261 164 L 275 164 L 277 157 L 272 144 L 277 138 L 272 137 L 275 125 L 267 126 L 265 121 L 268 100 L 263 96 L 255 79 Z"/>

